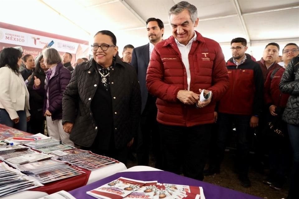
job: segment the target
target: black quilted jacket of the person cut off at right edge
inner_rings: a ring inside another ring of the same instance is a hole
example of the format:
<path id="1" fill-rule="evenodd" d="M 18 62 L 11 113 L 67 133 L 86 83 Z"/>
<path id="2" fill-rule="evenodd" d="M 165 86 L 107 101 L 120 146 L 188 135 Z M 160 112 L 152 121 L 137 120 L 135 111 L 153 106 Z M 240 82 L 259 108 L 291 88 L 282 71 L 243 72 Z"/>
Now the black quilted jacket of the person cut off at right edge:
<path id="1" fill-rule="evenodd" d="M 287 66 L 279 83 L 279 89 L 291 95 L 287 100 L 282 119 L 288 124 L 299 126 L 299 56 L 294 57 Z"/>

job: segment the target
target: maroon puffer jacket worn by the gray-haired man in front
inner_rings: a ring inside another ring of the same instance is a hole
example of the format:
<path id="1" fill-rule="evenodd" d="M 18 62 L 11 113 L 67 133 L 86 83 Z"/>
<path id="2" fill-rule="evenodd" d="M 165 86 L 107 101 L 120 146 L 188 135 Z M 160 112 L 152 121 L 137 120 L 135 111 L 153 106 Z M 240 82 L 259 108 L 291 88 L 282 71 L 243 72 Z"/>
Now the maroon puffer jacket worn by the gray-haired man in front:
<path id="1" fill-rule="evenodd" d="M 196 31 L 195 31 L 196 32 Z M 201 109 L 185 105 L 177 99 L 179 90 L 187 90 L 187 74 L 181 53 L 171 36 L 158 43 L 151 55 L 146 76 L 146 86 L 158 97 L 157 121 L 173 126 L 195 126 L 214 122 L 215 103 L 229 86 L 227 69 L 220 45 L 196 32 L 189 53 L 191 73 L 190 90 L 211 90 L 211 103 Z"/>

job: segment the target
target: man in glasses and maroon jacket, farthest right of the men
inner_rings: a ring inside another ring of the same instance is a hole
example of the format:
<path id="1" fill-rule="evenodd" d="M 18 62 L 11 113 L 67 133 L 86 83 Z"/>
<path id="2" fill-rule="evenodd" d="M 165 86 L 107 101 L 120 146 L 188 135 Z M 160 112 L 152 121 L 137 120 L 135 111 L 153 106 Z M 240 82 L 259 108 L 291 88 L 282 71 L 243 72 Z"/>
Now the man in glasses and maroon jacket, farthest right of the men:
<path id="1" fill-rule="evenodd" d="M 270 174 L 263 182 L 270 187 L 280 190 L 285 181 L 285 175 L 289 166 L 289 138 L 287 135 L 287 125 L 282 121 L 282 113 L 287 105 L 289 94 L 284 94 L 279 90 L 279 83 L 282 78 L 287 65 L 292 58 L 299 54 L 299 47 L 297 44 L 289 43 L 282 49 L 282 58 L 284 66 L 274 69 L 268 74 L 264 98 L 265 104 L 268 107 L 267 123 L 271 122 L 274 127 L 279 127 L 278 130 L 282 134 L 268 130 L 268 143 L 269 143 L 269 166 Z M 273 127 L 273 128 L 274 128 Z M 269 127 L 268 127 L 269 128 Z M 274 129 L 275 130 L 275 129 Z"/>

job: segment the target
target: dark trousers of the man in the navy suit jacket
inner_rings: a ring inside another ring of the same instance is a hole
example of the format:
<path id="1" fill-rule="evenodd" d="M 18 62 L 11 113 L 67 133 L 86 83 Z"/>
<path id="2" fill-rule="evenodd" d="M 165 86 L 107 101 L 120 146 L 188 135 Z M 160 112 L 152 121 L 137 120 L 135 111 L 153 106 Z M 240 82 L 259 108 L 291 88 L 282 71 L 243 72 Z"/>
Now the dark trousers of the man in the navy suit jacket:
<path id="1" fill-rule="evenodd" d="M 137 147 L 138 165 L 149 165 L 150 149 L 156 159 L 156 168 L 161 168 L 162 155 L 160 148 L 160 134 L 157 122 L 156 98 L 149 94 L 145 109 L 140 118 L 140 133 Z"/>

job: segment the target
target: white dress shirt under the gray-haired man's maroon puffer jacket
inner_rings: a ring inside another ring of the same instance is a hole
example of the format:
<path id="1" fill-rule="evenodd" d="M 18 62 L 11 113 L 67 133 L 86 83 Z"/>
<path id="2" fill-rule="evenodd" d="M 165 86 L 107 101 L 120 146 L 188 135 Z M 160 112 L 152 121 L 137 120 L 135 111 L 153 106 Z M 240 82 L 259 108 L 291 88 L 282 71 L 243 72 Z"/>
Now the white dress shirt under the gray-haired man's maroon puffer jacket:
<path id="1" fill-rule="evenodd" d="M 192 42 L 195 41 L 196 39 L 197 39 L 197 35 L 196 35 L 195 32 L 194 32 L 194 37 L 189 41 L 189 43 L 186 46 L 184 44 L 179 43 L 177 39 L 174 39 L 175 43 L 178 46 L 179 51 L 181 52 L 183 64 L 186 68 L 188 90 L 190 90 L 190 81 L 191 81 L 190 65 L 189 65 L 188 55 L 189 55 L 189 52 L 191 50 Z"/>

